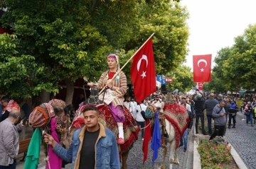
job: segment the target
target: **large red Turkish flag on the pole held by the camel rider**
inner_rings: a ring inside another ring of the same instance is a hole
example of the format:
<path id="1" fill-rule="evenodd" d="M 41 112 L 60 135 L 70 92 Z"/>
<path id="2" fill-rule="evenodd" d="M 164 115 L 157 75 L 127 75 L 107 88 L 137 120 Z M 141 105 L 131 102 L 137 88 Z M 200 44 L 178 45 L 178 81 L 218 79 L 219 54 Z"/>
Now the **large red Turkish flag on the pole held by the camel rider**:
<path id="1" fill-rule="evenodd" d="M 132 60 L 131 77 L 134 97 L 140 102 L 156 91 L 156 69 L 151 38 L 139 49 Z"/>

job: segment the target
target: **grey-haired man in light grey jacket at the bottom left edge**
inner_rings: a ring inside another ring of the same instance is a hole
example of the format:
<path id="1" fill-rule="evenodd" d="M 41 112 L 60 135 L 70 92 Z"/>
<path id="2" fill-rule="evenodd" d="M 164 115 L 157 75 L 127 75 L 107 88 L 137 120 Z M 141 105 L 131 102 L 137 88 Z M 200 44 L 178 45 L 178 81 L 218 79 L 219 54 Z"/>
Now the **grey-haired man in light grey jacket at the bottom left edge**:
<path id="1" fill-rule="evenodd" d="M 15 169 L 18 155 L 18 131 L 22 129 L 22 121 L 14 126 L 21 117 L 18 109 L 9 112 L 9 117 L 0 122 L 0 168 Z"/>

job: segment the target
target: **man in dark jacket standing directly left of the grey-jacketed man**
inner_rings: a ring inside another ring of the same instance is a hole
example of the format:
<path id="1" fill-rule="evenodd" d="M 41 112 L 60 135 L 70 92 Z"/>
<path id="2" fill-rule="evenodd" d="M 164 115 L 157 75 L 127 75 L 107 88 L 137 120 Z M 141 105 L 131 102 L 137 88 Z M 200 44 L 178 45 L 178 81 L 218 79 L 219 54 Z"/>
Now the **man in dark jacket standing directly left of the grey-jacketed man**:
<path id="1" fill-rule="evenodd" d="M 203 109 L 206 109 L 207 121 L 208 121 L 208 131 L 209 135 L 212 134 L 211 122 L 213 119 L 213 108 L 218 104 L 218 101 L 214 99 L 214 94 L 210 93 L 208 100 L 203 104 Z"/>

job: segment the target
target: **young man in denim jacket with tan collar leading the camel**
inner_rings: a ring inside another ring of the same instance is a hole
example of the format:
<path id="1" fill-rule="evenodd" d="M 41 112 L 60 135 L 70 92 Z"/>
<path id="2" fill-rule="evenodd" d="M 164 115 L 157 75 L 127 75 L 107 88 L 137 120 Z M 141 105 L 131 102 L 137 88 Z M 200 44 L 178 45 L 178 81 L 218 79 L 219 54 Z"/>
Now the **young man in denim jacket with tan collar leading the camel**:
<path id="1" fill-rule="evenodd" d="M 85 127 L 73 134 L 72 143 L 67 150 L 58 144 L 53 136 L 44 135 L 46 144 L 53 146 L 53 151 L 63 160 L 73 163 L 73 168 L 112 168 L 119 169 L 119 153 L 115 136 L 110 129 L 105 129 L 98 122 L 99 111 L 94 105 L 82 110 Z"/>

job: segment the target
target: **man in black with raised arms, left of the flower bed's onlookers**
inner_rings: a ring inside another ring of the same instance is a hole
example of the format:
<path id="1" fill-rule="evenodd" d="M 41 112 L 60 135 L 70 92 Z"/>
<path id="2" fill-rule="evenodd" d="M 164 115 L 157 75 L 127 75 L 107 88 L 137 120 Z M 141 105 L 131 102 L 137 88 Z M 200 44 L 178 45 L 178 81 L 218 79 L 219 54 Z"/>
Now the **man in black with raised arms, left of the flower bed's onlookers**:
<path id="1" fill-rule="evenodd" d="M 196 134 L 198 134 L 198 121 L 201 119 L 202 126 L 202 134 L 206 135 L 206 131 L 204 129 L 204 114 L 203 114 L 203 104 L 205 103 L 205 99 L 202 97 L 203 95 L 197 91 L 195 95 L 193 95 L 193 101 L 195 102 L 194 110 L 196 111 Z"/>

